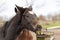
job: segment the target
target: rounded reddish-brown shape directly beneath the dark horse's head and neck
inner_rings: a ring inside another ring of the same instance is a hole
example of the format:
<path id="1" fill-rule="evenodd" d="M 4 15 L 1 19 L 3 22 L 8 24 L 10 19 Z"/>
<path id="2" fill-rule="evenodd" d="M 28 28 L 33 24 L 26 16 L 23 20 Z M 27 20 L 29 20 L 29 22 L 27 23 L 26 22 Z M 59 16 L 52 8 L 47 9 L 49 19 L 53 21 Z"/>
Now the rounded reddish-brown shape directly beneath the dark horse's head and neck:
<path id="1" fill-rule="evenodd" d="M 16 40 L 36 40 L 36 34 L 30 30 L 24 29 Z"/>

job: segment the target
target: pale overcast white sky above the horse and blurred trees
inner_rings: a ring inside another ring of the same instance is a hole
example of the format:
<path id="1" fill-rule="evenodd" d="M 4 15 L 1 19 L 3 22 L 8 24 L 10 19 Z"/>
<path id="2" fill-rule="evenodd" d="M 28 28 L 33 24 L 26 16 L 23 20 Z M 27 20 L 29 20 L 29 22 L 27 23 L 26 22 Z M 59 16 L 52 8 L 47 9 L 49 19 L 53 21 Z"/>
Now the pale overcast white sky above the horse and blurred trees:
<path id="1" fill-rule="evenodd" d="M 22 7 L 33 4 L 33 11 L 37 16 L 60 13 L 60 0 L 0 0 L 0 16 L 5 18 L 14 16 L 15 4 Z"/>

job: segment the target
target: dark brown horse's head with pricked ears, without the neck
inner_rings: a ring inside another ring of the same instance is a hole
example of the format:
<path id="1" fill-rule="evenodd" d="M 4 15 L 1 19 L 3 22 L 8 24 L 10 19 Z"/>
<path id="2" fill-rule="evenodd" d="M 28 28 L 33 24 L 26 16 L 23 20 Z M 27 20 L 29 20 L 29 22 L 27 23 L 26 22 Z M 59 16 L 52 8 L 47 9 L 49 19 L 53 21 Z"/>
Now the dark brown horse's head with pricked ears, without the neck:
<path id="1" fill-rule="evenodd" d="M 29 13 L 29 11 L 32 11 L 32 7 L 29 8 L 23 8 L 16 5 L 15 12 L 16 14 L 22 14 L 21 17 L 21 24 L 23 28 L 27 28 L 29 30 L 34 31 L 34 28 L 36 27 L 38 23 L 37 16 L 35 14 Z"/>

